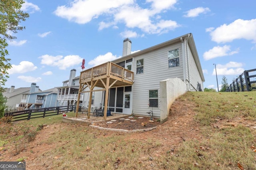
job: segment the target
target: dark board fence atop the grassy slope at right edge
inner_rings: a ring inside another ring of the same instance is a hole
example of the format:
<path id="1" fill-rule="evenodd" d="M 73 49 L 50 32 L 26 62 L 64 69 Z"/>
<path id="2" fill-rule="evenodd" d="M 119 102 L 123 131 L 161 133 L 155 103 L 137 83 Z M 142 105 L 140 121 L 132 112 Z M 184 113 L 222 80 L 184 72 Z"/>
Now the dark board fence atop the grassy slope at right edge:
<path id="1" fill-rule="evenodd" d="M 251 91 L 252 89 L 256 89 L 256 87 L 252 87 L 253 83 L 256 83 L 255 74 L 256 69 L 245 70 L 238 78 L 236 78 L 230 86 L 227 88 L 227 92 L 244 92 Z M 249 75 L 254 74 L 254 75 Z M 254 79 L 254 80 L 252 80 Z"/>

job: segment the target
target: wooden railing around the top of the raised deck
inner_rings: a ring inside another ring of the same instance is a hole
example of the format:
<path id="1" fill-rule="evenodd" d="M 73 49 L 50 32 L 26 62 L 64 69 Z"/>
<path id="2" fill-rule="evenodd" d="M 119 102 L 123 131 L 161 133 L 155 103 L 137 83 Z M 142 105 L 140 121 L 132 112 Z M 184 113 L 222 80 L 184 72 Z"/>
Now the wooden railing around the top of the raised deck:
<path id="1" fill-rule="evenodd" d="M 134 72 L 125 69 L 124 67 L 117 64 L 108 62 L 82 71 L 80 75 L 80 80 L 91 80 L 94 77 L 102 75 L 113 75 L 130 81 L 133 81 L 134 79 Z"/>

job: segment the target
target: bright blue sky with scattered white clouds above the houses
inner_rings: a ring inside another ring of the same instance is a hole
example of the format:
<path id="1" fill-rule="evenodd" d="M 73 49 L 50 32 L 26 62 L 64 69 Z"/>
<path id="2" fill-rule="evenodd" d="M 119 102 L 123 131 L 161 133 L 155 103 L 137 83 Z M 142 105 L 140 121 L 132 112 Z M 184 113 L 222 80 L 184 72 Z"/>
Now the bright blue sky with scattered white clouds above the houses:
<path id="1" fill-rule="evenodd" d="M 256 68 L 254 0 L 26 0 L 26 29 L 9 42 L 7 88 L 62 86 L 70 70 L 121 57 L 125 38 L 132 52 L 192 33 L 204 72 L 204 88 L 230 84 Z"/>

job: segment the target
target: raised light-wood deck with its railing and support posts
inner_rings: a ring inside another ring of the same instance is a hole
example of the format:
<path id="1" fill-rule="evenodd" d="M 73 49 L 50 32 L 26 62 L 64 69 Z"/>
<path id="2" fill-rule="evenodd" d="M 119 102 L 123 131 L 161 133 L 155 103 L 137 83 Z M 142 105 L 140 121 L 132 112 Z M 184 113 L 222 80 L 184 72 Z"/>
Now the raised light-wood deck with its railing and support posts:
<path id="1" fill-rule="evenodd" d="M 117 64 L 107 62 L 100 64 L 88 70 L 84 70 L 80 73 L 80 87 L 78 93 L 76 117 L 78 115 L 78 104 L 81 93 L 90 92 L 88 110 L 91 108 L 92 92 L 94 91 L 105 91 L 108 96 L 108 91 L 111 87 L 117 86 L 128 86 L 134 83 L 134 72 L 123 68 Z M 85 91 L 86 88 L 88 91 Z M 94 87 L 100 87 L 102 90 L 94 90 Z M 105 98 L 104 102 L 104 120 L 106 121 L 106 114 L 108 108 L 108 98 Z M 88 114 L 90 118 L 90 113 Z"/>

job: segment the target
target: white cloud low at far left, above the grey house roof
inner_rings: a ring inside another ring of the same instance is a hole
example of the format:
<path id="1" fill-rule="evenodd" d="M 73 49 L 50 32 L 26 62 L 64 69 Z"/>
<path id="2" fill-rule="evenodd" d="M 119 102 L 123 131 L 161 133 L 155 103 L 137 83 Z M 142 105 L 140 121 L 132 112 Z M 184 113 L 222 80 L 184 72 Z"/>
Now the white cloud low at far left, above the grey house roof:
<path id="1" fill-rule="evenodd" d="M 37 66 L 34 66 L 33 63 L 29 61 L 22 61 L 19 65 L 12 64 L 12 68 L 8 70 L 9 74 L 15 74 L 15 73 L 24 73 L 24 72 L 30 72 L 37 69 Z"/>

